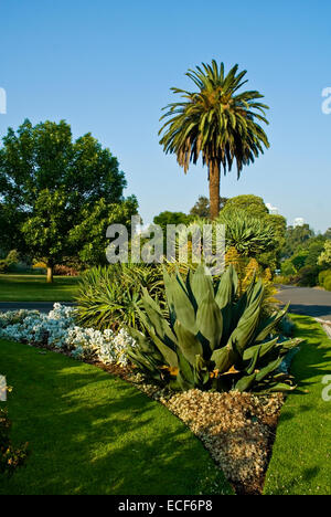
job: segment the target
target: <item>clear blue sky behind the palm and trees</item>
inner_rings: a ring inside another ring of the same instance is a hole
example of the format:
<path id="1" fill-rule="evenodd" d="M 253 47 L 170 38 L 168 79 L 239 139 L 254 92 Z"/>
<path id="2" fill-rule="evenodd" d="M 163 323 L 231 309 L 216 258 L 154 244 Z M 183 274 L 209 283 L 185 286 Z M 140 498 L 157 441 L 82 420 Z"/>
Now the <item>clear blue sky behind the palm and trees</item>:
<path id="1" fill-rule="evenodd" d="M 189 211 L 207 194 L 206 169 L 185 176 L 158 144 L 171 86 L 190 88 L 189 67 L 212 59 L 248 71 L 270 106 L 271 148 L 222 196 L 261 196 L 288 223 L 331 226 L 329 0 L 0 0 L 0 135 L 25 117 L 62 118 L 75 137 L 92 131 L 117 156 L 145 222 Z"/>

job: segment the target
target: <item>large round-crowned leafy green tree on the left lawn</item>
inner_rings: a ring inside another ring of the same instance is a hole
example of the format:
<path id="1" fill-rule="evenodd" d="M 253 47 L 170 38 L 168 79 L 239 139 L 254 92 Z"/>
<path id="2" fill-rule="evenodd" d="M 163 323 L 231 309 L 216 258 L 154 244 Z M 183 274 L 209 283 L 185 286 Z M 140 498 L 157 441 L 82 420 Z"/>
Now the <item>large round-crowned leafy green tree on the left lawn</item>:
<path id="1" fill-rule="evenodd" d="M 96 222 L 95 205 L 100 200 L 109 211 L 122 203 L 126 180 L 110 150 L 90 134 L 73 140 L 71 126 L 64 120 L 36 126 L 25 120 L 3 138 L 0 186 L 3 213 L 20 214 L 12 229 L 20 242 L 10 243 L 10 247 L 43 257 L 51 282 L 55 263 L 81 250 L 76 241 L 73 251 L 71 231 L 83 218 L 94 214 Z M 106 235 L 103 238 L 106 247 Z M 85 234 L 83 246 L 88 239 Z"/>

